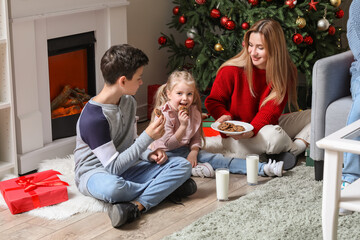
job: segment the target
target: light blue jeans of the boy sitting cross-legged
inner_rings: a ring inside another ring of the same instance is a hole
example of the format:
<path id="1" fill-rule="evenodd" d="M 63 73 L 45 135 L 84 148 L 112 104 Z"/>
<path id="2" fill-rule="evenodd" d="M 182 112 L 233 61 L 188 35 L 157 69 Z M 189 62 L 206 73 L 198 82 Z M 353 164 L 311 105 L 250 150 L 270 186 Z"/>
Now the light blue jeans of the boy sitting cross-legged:
<path id="1" fill-rule="evenodd" d="M 90 194 L 109 203 L 138 201 L 146 211 L 158 205 L 191 176 L 191 164 L 185 159 L 169 159 L 158 165 L 142 161 L 121 176 L 96 173 L 87 183 Z"/>

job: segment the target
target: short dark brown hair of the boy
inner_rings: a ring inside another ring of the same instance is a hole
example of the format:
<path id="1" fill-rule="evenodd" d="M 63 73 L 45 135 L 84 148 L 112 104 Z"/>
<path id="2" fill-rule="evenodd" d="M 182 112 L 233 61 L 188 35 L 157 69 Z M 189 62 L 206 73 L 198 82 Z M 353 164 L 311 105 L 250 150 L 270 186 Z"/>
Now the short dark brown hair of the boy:
<path id="1" fill-rule="evenodd" d="M 129 44 L 122 44 L 112 46 L 105 52 L 100 68 L 105 83 L 113 85 L 121 76 L 132 79 L 136 70 L 148 62 L 149 58 L 143 51 Z"/>

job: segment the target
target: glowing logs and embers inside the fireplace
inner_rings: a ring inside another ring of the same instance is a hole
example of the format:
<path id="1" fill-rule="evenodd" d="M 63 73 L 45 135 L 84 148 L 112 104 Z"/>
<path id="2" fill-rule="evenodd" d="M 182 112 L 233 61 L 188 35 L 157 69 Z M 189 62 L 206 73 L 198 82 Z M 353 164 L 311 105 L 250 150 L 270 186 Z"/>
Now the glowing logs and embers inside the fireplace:
<path id="1" fill-rule="evenodd" d="M 91 96 L 84 89 L 66 85 L 61 93 L 51 101 L 51 118 L 80 113 L 90 98 Z"/>

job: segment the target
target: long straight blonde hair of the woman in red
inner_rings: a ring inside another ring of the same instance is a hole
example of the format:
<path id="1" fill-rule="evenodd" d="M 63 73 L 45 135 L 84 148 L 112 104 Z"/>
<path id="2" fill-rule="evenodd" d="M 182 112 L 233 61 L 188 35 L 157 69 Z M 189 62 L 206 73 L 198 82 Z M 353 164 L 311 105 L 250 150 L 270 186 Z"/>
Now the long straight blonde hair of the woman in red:
<path id="1" fill-rule="evenodd" d="M 298 109 L 299 106 L 297 103 L 296 91 L 297 69 L 287 50 L 285 36 L 281 25 L 275 20 L 263 19 L 256 22 L 245 33 L 244 47 L 240 53 L 224 62 L 219 70 L 224 66 L 244 67 L 250 92 L 255 96 L 252 83 L 253 64 L 248 52 L 249 38 L 252 33 L 261 33 L 263 36 L 262 39 L 267 54 L 266 81 L 272 88 L 269 96 L 266 97 L 260 107 L 270 100 L 275 100 L 276 103 L 280 104 L 284 100 L 286 94 L 288 94 L 289 109 L 291 109 L 291 104 Z"/>

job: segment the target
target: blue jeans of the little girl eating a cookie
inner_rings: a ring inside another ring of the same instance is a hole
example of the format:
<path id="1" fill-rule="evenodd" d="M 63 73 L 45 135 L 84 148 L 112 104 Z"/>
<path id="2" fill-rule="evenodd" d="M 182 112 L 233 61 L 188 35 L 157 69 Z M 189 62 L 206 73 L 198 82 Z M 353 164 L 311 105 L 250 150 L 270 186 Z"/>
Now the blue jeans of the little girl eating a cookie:
<path id="1" fill-rule="evenodd" d="M 181 161 L 186 159 L 189 155 L 190 149 L 188 147 L 181 147 L 172 151 L 166 152 L 169 159 Z M 231 173 L 246 174 L 246 160 L 240 158 L 225 157 L 219 153 L 209 153 L 204 150 L 200 150 L 197 158 L 199 163 L 208 162 L 214 169 L 229 168 Z M 258 174 L 265 176 L 264 174 L 265 163 L 259 162 Z"/>

